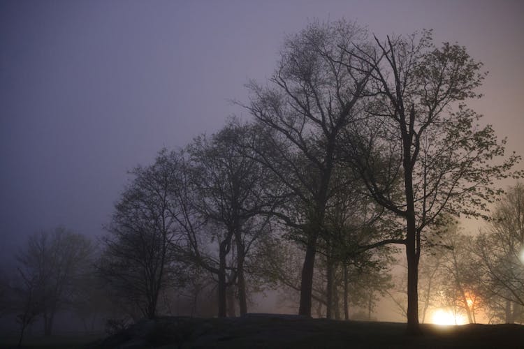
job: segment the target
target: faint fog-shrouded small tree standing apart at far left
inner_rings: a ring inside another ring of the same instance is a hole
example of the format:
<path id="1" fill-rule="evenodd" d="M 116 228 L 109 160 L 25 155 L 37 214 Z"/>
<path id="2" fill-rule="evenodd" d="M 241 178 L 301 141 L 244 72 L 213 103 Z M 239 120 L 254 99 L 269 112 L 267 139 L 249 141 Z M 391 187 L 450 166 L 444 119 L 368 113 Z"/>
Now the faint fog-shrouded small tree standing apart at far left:
<path id="1" fill-rule="evenodd" d="M 71 302 L 75 280 L 85 271 L 93 251 L 94 246 L 87 237 L 59 227 L 32 235 L 18 253 L 26 298 L 31 299 L 31 303 L 37 299 L 46 336 L 52 334 L 54 315 Z"/>

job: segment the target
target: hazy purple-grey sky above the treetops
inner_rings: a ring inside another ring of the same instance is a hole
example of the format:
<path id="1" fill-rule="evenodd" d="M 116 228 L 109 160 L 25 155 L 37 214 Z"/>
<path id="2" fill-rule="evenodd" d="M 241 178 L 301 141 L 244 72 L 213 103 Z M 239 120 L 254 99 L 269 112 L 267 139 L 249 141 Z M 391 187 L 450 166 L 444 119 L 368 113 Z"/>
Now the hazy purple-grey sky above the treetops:
<path id="1" fill-rule="evenodd" d="M 2 0 L 0 254 L 57 225 L 101 234 L 127 170 L 217 131 L 285 34 L 340 17 L 465 45 L 490 71 L 471 105 L 524 154 L 524 1 Z"/>

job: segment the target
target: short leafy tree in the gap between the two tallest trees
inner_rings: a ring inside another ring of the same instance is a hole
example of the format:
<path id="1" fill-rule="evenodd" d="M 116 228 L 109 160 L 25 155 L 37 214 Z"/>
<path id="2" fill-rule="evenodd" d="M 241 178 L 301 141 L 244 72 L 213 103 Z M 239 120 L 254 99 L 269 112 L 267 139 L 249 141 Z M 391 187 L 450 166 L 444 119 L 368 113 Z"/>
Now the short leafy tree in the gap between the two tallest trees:
<path id="1" fill-rule="evenodd" d="M 326 258 L 327 318 L 341 318 L 340 310 L 344 309 L 348 320 L 349 303 L 369 305 L 367 296 L 374 299 L 379 285 L 387 288 L 381 280 L 388 277 L 392 248 L 384 245 L 388 237 L 397 234 L 398 227 L 391 219 L 394 217 L 384 214 L 384 209 L 363 195 L 361 189 L 355 184 L 342 186 L 328 201 L 325 230 L 318 247 Z M 359 297 L 358 290 L 364 290 L 366 296 Z M 343 300 L 343 306 L 339 299 Z"/>

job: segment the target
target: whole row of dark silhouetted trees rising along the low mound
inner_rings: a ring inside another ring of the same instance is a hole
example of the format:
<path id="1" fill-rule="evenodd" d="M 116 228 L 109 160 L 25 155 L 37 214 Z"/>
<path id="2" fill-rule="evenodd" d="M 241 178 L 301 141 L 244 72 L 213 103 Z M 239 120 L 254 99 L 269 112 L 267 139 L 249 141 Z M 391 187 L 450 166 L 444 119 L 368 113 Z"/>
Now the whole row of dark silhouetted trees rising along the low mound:
<path id="1" fill-rule="evenodd" d="M 489 218 L 502 193 L 495 182 L 521 177 L 520 157 L 467 107 L 485 75 L 465 47 L 437 46 L 431 31 L 382 40 L 353 22 L 310 23 L 286 37 L 272 77 L 249 82 L 249 101 L 235 102 L 249 120 L 131 172 L 96 275 L 147 318 L 163 290 L 204 284 L 216 289 L 219 316 L 233 303 L 245 314 L 250 293 L 283 285 L 299 292 L 300 315 L 319 304 L 348 318 L 351 302 L 371 312 L 402 246 L 408 332 L 419 333 L 423 247 L 437 251 L 431 239 L 457 216 Z M 518 229 L 512 244 L 522 246 Z M 494 235 L 479 246 L 495 248 Z M 502 260 L 477 252 L 486 289 L 475 294 L 521 304 L 520 276 L 489 289 Z"/>

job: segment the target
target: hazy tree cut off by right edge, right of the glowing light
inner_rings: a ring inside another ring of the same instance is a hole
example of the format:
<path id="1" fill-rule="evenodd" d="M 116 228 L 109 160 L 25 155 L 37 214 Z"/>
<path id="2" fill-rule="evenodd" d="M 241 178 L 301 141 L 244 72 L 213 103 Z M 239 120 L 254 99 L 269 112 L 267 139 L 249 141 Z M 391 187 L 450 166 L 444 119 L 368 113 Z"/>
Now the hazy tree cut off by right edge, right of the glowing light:
<path id="1" fill-rule="evenodd" d="M 523 318 L 524 185 L 510 187 L 474 243 L 479 292 L 504 322 Z"/>

